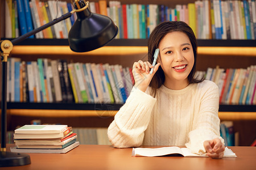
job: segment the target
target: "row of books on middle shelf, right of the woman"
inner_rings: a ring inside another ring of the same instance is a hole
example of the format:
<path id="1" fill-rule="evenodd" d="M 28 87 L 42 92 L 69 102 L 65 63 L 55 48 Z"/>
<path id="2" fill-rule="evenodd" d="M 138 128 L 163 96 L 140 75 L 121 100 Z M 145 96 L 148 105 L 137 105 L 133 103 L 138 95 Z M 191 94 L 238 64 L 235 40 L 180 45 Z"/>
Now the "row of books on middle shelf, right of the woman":
<path id="1" fill-rule="evenodd" d="M 208 68 L 205 79 L 212 80 L 218 85 L 221 104 L 256 104 L 256 66 L 247 69 Z M 214 71 L 215 70 L 215 71 Z M 217 70 L 221 70 L 218 73 Z M 198 72 L 198 71 L 197 71 Z M 196 73 L 197 75 L 199 73 Z M 217 76 L 216 74 L 220 74 Z"/>

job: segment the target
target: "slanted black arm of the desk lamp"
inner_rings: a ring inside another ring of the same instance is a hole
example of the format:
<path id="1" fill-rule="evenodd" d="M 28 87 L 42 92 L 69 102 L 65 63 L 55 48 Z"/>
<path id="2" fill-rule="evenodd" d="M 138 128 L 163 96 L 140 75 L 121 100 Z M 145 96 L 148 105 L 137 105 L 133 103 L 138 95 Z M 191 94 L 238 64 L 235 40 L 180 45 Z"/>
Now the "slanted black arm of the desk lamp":
<path id="1" fill-rule="evenodd" d="M 18 38 L 11 40 L 11 42 L 13 43 L 13 45 L 15 45 L 15 44 L 17 44 L 18 42 L 23 41 L 24 39 L 27 39 L 27 37 L 30 37 L 30 36 L 32 36 L 32 35 L 35 35 L 36 33 L 42 31 L 43 29 L 46 29 L 46 28 L 48 28 L 48 27 L 51 27 L 52 25 L 54 25 L 54 24 L 60 22 L 61 20 L 65 20 L 65 19 L 71 17 L 71 15 L 72 15 L 74 12 L 75 12 L 75 11 L 68 12 L 67 14 L 62 15 L 62 16 L 60 16 L 59 18 L 56 18 L 56 19 L 52 20 L 51 22 L 42 25 L 41 27 L 38 27 L 38 28 L 36 28 L 36 29 L 33 29 L 32 31 L 27 32 L 27 33 L 25 33 L 24 35 L 19 36 Z"/>

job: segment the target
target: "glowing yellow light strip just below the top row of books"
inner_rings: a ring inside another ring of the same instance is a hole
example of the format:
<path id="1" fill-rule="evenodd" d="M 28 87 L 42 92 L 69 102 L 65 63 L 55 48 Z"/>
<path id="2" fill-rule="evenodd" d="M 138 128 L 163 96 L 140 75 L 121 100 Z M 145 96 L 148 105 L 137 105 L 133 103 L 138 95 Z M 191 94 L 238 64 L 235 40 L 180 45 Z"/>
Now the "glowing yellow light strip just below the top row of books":
<path id="1" fill-rule="evenodd" d="M 199 46 L 198 53 L 202 55 L 229 55 L 256 57 L 256 47 L 235 46 Z M 76 55 L 76 56 L 99 56 L 99 55 L 127 55 L 147 54 L 147 46 L 104 46 L 86 53 L 75 53 L 69 46 L 47 45 L 16 45 L 11 54 L 16 55 Z"/>

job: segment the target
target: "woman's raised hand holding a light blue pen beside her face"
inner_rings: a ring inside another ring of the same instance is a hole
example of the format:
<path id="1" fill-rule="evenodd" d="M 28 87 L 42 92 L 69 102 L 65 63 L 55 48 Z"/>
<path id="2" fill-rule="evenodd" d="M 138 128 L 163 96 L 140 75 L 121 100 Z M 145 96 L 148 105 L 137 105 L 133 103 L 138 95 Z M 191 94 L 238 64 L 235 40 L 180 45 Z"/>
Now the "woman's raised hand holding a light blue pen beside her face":
<path id="1" fill-rule="evenodd" d="M 158 70 L 160 63 L 157 63 L 154 67 L 154 71 L 150 74 L 150 69 L 153 67 L 148 61 L 134 62 L 133 64 L 133 76 L 135 80 L 134 86 L 139 88 L 139 90 L 145 92 L 147 90 L 148 85 L 151 82 L 152 77 Z"/>

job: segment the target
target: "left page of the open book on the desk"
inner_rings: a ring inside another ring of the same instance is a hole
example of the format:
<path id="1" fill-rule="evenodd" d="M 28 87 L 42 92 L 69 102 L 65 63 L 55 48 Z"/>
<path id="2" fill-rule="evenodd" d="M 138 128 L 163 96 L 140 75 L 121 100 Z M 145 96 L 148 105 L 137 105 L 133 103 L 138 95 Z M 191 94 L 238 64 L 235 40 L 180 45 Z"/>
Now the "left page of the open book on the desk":
<path id="1" fill-rule="evenodd" d="M 183 152 L 176 146 L 160 148 L 133 148 L 132 152 L 132 156 L 163 156 L 170 154 L 183 155 Z"/>

